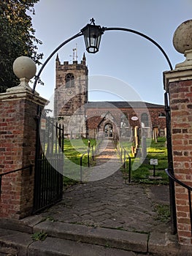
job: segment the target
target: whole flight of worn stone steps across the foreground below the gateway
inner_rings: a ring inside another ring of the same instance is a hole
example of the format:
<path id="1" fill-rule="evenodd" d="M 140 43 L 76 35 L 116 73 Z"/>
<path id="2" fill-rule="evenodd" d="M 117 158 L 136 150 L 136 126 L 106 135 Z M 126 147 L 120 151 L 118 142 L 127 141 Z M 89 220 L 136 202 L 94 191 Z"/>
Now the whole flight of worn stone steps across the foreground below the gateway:
<path id="1" fill-rule="evenodd" d="M 18 231 L 19 230 L 19 231 Z M 33 241 L 32 233 L 47 233 Z M 0 255 L 12 256 L 191 256 L 191 246 L 181 246 L 167 233 L 134 233 L 104 227 L 42 221 L 30 217 L 0 222 Z"/>

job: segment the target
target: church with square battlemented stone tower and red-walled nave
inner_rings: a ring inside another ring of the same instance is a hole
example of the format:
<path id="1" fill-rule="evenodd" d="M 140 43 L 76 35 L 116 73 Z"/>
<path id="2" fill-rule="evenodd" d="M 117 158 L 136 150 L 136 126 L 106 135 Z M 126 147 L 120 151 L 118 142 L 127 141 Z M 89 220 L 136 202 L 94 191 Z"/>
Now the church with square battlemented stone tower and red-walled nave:
<path id="1" fill-rule="evenodd" d="M 54 116 L 64 124 L 66 138 L 131 138 L 135 127 L 147 138 L 164 136 L 164 105 L 149 102 L 89 102 L 88 67 L 82 61 L 55 59 Z"/>

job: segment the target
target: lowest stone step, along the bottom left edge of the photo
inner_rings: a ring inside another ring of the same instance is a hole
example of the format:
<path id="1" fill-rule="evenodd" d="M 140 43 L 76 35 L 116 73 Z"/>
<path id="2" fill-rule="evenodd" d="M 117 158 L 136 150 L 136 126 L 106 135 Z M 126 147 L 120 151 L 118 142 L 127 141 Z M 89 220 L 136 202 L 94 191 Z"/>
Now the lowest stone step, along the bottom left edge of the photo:
<path id="1" fill-rule="evenodd" d="M 0 229 L 0 255 L 5 256 L 136 256 L 134 252 L 110 246 L 86 244 L 61 238 L 47 237 L 33 241 L 31 234 Z"/>

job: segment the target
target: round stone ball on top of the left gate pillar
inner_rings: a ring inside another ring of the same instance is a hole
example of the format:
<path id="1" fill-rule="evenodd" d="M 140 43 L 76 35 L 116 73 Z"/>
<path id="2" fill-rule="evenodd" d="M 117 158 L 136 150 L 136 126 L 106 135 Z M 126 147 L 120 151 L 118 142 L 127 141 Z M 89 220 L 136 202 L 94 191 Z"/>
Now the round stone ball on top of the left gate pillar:
<path id="1" fill-rule="evenodd" d="M 28 80 L 33 78 L 37 71 L 34 61 L 26 56 L 15 59 L 12 69 L 18 78 L 27 78 Z"/>

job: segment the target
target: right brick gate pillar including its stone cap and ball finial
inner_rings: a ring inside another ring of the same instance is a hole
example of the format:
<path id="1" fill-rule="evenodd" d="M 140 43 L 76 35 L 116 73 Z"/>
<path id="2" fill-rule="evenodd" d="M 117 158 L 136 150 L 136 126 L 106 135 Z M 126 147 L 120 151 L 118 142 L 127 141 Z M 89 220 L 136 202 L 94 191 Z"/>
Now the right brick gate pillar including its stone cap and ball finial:
<path id="1" fill-rule="evenodd" d="M 192 187 L 192 20 L 182 23 L 174 33 L 174 48 L 186 60 L 164 72 L 164 88 L 169 93 L 171 111 L 174 176 Z M 177 234 L 180 244 L 191 245 L 188 189 L 175 184 Z"/>

